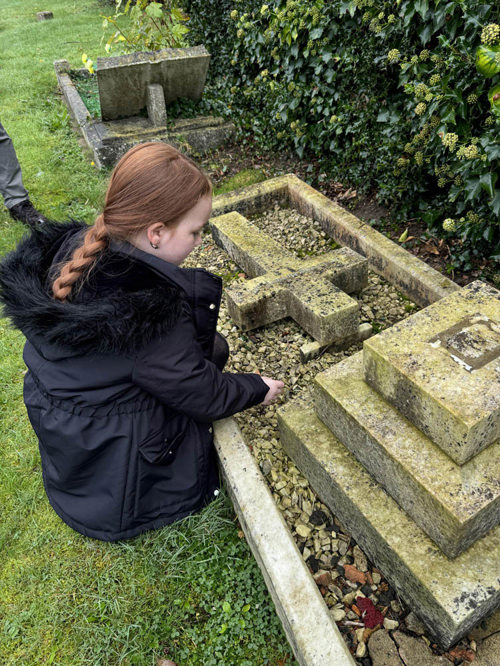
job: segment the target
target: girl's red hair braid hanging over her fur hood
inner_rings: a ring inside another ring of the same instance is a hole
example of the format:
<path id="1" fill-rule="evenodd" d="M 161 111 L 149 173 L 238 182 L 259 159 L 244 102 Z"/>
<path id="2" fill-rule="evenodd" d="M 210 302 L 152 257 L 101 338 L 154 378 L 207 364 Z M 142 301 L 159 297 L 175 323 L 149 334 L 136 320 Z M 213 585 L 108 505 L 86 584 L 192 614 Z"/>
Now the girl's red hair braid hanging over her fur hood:
<path id="1" fill-rule="evenodd" d="M 66 301 L 71 295 L 73 285 L 78 282 L 85 273 L 88 273 L 95 263 L 98 255 L 106 248 L 108 244 L 108 233 L 104 223 L 104 216 L 101 214 L 96 219 L 85 236 L 80 247 L 74 252 L 73 256 L 67 261 L 59 273 L 59 277 L 54 280 L 52 293 L 58 301 Z"/>

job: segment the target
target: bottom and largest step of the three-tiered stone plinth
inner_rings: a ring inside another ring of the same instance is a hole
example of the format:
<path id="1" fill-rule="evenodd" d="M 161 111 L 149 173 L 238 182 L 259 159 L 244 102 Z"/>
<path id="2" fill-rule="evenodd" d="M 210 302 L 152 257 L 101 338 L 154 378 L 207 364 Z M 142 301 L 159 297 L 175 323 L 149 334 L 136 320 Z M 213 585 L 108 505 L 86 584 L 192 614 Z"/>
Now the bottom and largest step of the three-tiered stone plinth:
<path id="1" fill-rule="evenodd" d="M 278 412 L 288 455 L 443 649 L 500 603 L 500 527 L 454 560 L 431 539 L 314 414 Z"/>

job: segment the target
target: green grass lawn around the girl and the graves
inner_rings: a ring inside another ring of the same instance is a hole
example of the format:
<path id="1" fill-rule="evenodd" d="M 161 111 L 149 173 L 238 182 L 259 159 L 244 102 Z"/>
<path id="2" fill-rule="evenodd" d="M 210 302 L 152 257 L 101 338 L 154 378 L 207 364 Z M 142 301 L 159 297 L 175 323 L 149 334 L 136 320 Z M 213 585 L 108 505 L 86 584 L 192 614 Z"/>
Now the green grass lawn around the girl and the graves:
<path id="1" fill-rule="evenodd" d="M 37 22 L 42 9 L 54 20 Z M 71 130 L 52 65 L 103 54 L 101 11 L 89 0 L 0 4 L 0 120 L 33 202 L 54 219 L 91 222 L 107 182 Z M 0 253 L 22 233 L 0 206 Z M 197 516 L 115 544 L 55 515 L 22 402 L 23 342 L 0 320 L 0 664 L 294 663 L 225 493 Z"/>

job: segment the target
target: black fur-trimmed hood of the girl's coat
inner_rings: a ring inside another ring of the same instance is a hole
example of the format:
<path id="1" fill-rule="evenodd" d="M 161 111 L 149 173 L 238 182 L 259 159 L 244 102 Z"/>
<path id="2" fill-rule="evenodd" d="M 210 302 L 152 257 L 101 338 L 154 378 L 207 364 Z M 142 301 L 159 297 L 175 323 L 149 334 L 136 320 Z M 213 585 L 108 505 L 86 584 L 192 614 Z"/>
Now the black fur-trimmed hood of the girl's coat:
<path id="1" fill-rule="evenodd" d="M 188 271 L 149 259 L 128 243 L 102 253 L 71 302 L 55 300 L 54 267 L 71 255 L 85 229 L 82 222 L 49 222 L 0 263 L 4 313 L 46 358 L 133 353 L 171 330 L 183 307 Z"/>

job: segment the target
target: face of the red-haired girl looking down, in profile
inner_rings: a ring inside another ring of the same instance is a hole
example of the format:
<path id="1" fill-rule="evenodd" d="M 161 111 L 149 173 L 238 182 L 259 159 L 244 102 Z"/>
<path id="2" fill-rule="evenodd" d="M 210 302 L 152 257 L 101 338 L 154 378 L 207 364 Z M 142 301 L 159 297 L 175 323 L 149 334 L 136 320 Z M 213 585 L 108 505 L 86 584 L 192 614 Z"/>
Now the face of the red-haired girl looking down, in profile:
<path id="1" fill-rule="evenodd" d="M 211 213 L 212 197 L 203 197 L 175 227 L 161 227 L 158 230 L 158 240 L 155 239 L 155 242 L 159 248 L 152 250 L 152 254 L 180 266 L 188 254 L 201 243 L 201 230 Z"/>

